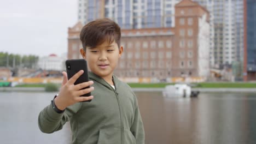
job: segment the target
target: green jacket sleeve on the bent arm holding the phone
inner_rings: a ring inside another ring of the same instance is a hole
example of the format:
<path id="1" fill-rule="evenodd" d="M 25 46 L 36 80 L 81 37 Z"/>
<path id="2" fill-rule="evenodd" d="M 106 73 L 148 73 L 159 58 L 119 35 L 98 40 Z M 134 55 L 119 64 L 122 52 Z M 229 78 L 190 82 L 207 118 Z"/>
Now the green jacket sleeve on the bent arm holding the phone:
<path id="1" fill-rule="evenodd" d="M 78 112 L 80 103 L 74 104 L 66 108 L 65 112 L 57 113 L 50 104 L 46 106 L 38 116 L 38 127 L 43 133 L 54 133 L 61 130 L 63 125 Z"/>

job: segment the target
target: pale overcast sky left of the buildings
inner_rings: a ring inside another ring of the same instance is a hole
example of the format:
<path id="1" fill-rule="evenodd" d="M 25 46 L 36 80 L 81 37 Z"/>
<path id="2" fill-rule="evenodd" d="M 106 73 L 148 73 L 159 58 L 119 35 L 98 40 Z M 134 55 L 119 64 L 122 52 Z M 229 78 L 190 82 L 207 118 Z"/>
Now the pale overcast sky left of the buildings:
<path id="1" fill-rule="evenodd" d="M 0 52 L 60 56 L 67 52 L 68 27 L 76 22 L 76 0 L 1 1 Z"/>

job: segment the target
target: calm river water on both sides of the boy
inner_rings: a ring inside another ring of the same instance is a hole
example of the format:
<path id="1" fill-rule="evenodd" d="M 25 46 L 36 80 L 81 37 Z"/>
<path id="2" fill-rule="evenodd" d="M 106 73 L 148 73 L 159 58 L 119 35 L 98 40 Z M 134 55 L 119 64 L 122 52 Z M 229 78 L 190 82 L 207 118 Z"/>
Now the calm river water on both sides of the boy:
<path id="1" fill-rule="evenodd" d="M 55 93 L 0 92 L 0 143 L 71 143 L 70 126 L 42 133 L 38 113 Z M 147 144 L 256 143 L 256 94 L 167 98 L 136 92 Z"/>

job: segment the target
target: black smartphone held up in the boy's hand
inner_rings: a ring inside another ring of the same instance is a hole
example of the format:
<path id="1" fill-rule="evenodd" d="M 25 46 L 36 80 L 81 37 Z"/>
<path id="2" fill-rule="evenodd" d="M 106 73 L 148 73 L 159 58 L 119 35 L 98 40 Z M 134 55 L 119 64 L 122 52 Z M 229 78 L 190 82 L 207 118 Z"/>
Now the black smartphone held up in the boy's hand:
<path id="1" fill-rule="evenodd" d="M 87 69 L 87 62 L 84 59 L 68 59 L 66 61 L 66 70 L 67 70 L 67 76 L 68 80 L 78 71 L 84 70 L 84 73 L 75 81 L 74 85 L 77 85 L 79 83 L 87 82 L 88 79 L 88 69 Z M 89 88 L 85 87 L 85 88 Z M 82 89 L 85 89 L 82 88 Z M 91 93 L 86 93 L 84 95 L 81 95 L 80 97 L 89 97 Z M 91 100 L 82 101 L 82 102 L 90 102 Z"/>

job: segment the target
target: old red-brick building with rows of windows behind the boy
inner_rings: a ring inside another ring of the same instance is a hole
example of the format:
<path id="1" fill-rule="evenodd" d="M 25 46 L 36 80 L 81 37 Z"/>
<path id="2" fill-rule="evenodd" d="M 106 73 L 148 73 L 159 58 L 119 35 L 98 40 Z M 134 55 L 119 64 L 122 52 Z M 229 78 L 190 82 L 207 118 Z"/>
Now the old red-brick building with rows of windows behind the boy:
<path id="1" fill-rule="evenodd" d="M 198 3 L 175 5 L 175 27 L 122 29 L 119 77 L 207 77 L 210 74 L 209 13 Z M 82 23 L 68 29 L 68 59 L 82 58 L 79 32 Z"/>

